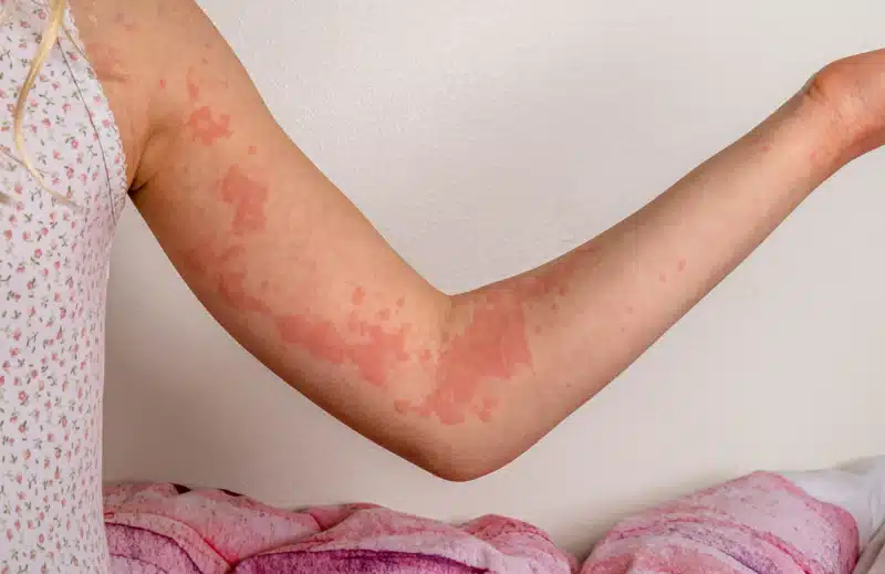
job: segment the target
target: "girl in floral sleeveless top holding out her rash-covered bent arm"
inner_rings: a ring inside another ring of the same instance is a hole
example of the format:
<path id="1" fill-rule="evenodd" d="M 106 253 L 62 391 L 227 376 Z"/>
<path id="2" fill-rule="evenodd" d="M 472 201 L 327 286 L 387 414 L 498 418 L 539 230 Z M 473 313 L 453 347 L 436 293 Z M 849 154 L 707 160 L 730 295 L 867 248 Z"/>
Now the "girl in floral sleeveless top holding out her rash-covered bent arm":
<path id="1" fill-rule="evenodd" d="M 268 368 L 385 448 L 470 480 L 593 397 L 885 143 L 885 52 L 835 62 L 605 233 L 450 296 L 299 152 L 192 0 L 67 3 L 2 3 L 2 573 L 106 572 L 104 302 L 127 195 Z"/>

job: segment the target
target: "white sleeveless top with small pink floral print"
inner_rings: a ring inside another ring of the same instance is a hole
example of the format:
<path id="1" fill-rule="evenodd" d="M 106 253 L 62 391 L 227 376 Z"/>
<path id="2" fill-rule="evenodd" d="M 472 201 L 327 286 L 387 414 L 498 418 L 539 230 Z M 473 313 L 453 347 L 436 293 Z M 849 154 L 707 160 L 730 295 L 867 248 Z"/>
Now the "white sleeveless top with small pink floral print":
<path id="1" fill-rule="evenodd" d="M 108 259 L 127 182 L 119 132 L 70 13 L 23 122 L 46 187 L 18 161 L 13 111 L 45 29 L 0 25 L 0 574 L 105 573 L 102 392 Z"/>

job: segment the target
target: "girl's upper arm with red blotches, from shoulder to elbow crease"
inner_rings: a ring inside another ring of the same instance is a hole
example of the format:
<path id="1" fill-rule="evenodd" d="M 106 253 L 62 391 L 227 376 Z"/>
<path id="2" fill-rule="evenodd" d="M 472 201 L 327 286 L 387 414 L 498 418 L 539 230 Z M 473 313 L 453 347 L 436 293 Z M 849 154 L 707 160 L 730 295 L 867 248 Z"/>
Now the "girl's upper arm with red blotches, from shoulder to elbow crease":
<path id="1" fill-rule="evenodd" d="M 430 393 L 427 364 L 449 299 L 290 140 L 191 0 L 150 1 L 160 7 L 153 41 L 162 55 L 155 75 L 146 74 L 155 83 L 152 137 L 136 206 L 199 300 L 248 351 L 408 456 L 412 447 L 396 438 L 407 424 L 397 407 Z"/>

